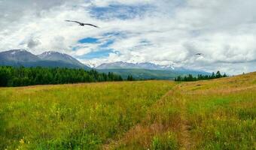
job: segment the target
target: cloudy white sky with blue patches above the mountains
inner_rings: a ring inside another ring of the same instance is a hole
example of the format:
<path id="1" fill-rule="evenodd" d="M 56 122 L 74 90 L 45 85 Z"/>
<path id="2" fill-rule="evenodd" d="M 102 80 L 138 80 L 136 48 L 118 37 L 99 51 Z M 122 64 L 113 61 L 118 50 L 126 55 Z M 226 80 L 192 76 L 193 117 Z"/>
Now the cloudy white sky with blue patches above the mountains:
<path id="1" fill-rule="evenodd" d="M 256 71 L 255 7 L 254 0 L 0 0 L 0 51 L 242 74 Z"/>

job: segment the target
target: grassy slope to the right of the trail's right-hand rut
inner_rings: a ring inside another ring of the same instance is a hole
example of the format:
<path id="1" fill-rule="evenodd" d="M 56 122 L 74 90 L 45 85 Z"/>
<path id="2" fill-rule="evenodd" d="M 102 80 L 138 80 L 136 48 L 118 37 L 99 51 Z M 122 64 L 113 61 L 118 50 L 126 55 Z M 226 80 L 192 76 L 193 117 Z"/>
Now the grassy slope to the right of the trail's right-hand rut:
<path id="1" fill-rule="evenodd" d="M 255 75 L 215 80 L 203 83 L 202 89 L 184 92 L 193 148 L 255 149 Z"/>

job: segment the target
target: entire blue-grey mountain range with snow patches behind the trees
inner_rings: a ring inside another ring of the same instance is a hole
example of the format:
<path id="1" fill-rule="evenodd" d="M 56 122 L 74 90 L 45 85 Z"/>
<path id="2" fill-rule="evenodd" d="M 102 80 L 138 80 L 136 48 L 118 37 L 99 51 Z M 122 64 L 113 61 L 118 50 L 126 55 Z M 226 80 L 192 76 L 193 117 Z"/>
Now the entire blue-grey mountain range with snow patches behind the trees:
<path id="1" fill-rule="evenodd" d="M 136 79 L 157 79 L 173 80 L 177 76 L 186 74 L 209 74 L 204 71 L 194 71 L 185 68 L 174 68 L 172 65 L 155 65 L 151 62 L 128 63 L 112 62 L 104 63 L 97 67 L 90 68 L 84 65 L 76 58 L 65 53 L 48 51 L 40 55 L 34 55 L 25 49 L 12 49 L 0 52 L 0 65 L 24 66 L 24 67 L 50 67 L 50 68 L 84 68 L 85 70 L 96 69 L 99 72 L 113 72 L 120 74 L 123 78 L 132 75 Z"/>

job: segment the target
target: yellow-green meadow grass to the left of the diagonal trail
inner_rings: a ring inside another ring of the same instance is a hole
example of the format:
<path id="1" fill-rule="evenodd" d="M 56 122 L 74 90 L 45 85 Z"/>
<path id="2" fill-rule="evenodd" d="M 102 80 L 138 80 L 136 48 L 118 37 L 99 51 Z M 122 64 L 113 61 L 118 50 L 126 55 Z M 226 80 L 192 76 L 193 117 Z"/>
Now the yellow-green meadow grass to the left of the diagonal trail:
<path id="1" fill-rule="evenodd" d="M 0 91 L 0 149 L 97 149 L 122 136 L 170 82 L 93 83 Z"/>

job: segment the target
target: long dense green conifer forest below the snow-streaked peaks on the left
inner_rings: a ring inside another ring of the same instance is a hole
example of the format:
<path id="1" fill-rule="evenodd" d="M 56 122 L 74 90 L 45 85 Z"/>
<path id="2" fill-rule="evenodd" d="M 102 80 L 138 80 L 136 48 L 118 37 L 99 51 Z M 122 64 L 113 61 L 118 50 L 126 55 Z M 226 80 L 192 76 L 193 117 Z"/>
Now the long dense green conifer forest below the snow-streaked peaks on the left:
<path id="1" fill-rule="evenodd" d="M 0 86 L 2 87 L 105 81 L 123 81 L 123 78 L 113 73 L 105 74 L 84 69 L 0 67 Z"/>

